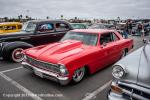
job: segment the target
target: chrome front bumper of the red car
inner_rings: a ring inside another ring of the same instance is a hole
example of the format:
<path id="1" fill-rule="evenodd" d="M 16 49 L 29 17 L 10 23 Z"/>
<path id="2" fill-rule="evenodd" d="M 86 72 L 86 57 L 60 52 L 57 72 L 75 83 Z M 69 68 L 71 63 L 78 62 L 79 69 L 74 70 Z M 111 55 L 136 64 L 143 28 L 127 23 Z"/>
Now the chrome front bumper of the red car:
<path id="1" fill-rule="evenodd" d="M 24 68 L 34 72 L 34 74 L 36 74 L 37 76 L 59 82 L 61 85 L 67 85 L 70 81 L 68 77 L 60 76 L 59 74 L 37 68 L 27 62 L 22 62 L 21 64 Z"/>

